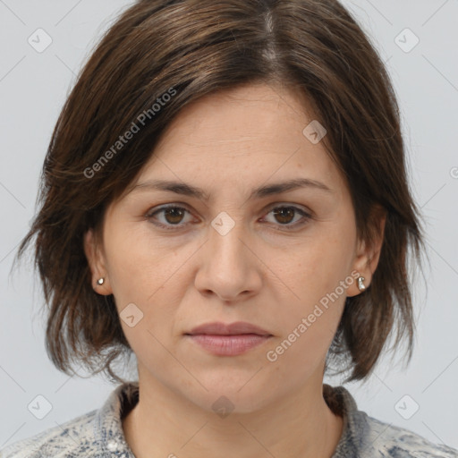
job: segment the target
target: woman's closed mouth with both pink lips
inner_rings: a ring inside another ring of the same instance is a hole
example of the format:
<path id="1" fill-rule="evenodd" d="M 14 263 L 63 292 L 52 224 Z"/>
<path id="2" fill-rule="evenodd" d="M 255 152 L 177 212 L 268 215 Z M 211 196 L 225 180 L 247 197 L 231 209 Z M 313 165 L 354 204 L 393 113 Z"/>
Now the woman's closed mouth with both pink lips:
<path id="1" fill-rule="evenodd" d="M 194 327 L 185 334 L 195 344 L 217 356 L 236 356 L 264 344 L 273 335 L 247 322 L 225 325 L 214 322 Z"/>

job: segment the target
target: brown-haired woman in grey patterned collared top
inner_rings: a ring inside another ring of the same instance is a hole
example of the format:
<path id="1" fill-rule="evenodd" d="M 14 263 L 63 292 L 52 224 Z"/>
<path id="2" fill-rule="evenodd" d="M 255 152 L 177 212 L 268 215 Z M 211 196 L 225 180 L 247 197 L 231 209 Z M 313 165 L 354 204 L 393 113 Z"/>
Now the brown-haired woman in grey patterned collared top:
<path id="1" fill-rule="evenodd" d="M 422 248 L 394 91 L 338 2 L 133 4 L 42 183 L 18 255 L 36 236 L 48 352 L 121 385 L 2 456 L 458 456 L 323 384 L 394 331 L 411 355 Z"/>

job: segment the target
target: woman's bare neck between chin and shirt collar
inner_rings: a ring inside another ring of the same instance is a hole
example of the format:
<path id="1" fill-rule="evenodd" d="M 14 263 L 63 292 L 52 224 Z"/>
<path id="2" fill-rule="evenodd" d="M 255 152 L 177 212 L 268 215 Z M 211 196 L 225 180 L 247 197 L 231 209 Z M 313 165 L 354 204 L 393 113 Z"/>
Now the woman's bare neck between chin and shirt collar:
<path id="1" fill-rule="evenodd" d="M 342 436 L 343 419 L 327 406 L 322 380 L 262 409 L 241 413 L 235 408 L 227 416 L 202 409 L 154 377 L 143 380 L 139 377 L 139 403 L 123 419 L 136 458 L 330 458 Z"/>

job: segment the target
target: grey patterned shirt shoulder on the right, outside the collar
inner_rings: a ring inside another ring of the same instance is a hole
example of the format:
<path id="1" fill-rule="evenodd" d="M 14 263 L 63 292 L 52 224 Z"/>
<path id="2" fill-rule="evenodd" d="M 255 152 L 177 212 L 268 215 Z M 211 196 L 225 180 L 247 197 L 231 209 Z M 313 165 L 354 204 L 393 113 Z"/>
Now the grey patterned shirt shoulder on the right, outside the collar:
<path id="1" fill-rule="evenodd" d="M 367 424 L 364 456 L 392 458 L 458 458 L 458 450 L 428 441 L 410 429 L 369 417 L 358 411 Z"/>

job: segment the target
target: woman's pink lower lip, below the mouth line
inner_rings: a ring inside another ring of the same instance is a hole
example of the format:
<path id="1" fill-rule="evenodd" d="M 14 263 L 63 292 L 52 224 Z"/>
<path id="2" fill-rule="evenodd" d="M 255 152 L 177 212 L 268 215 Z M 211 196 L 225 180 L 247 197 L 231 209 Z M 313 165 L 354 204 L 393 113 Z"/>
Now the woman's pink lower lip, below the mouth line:
<path id="1" fill-rule="evenodd" d="M 196 344 L 218 356 L 235 356 L 248 352 L 251 348 L 264 344 L 271 335 L 188 335 Z"/>

